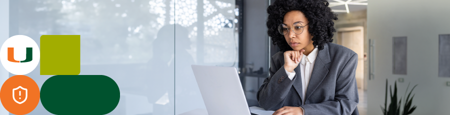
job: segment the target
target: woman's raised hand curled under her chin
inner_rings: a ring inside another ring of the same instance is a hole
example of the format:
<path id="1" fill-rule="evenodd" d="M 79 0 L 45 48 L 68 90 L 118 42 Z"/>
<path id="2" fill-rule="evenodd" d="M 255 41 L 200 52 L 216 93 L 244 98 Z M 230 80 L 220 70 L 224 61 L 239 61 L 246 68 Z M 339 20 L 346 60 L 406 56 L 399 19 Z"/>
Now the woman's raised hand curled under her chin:
<path id="1" fill-rule="evenodd" d="M 300 62 L 301 57 L 303 56 L 304 49 L 295 51 L 295 50 L 288 50 L 284 52 L 284 69 L 286 69 L 289 72 L 292 72 L 292 70 L 297 67 L 298 62 Z"/>

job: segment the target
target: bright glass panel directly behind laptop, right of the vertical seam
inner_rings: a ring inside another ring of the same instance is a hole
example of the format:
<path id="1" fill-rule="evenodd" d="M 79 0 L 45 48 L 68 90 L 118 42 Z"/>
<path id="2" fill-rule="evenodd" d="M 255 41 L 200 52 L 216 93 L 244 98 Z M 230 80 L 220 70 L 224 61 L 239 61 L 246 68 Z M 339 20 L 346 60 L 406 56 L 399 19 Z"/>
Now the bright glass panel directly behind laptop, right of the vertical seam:
<path id="1" fill-rule="evenodd" d="M 234 66 L 238 62 L 235 0 L 174 0 L 175 114 L 205 108 L 191 64 Z M 212 77 L 212 76 L 211 76 Z"/>

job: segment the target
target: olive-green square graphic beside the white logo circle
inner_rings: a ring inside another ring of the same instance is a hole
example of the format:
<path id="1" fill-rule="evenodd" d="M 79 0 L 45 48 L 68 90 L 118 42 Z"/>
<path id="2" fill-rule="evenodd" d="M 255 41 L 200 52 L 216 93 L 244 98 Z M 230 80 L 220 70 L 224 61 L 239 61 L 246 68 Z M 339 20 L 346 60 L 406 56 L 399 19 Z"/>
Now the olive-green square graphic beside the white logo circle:
<path id="1" fill-rule="evenodd" d="M 80 71 L 80 35 L 40 36 L 40 74 L 77 75 Z"/>

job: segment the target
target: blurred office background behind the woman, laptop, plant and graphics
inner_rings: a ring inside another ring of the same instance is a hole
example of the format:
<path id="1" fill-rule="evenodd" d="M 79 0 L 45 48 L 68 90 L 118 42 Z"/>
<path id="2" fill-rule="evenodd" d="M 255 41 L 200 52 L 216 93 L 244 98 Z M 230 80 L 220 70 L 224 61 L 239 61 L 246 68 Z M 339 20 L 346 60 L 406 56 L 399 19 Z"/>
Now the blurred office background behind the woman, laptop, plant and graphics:
<path id="1" fill-rule="evenodd" d="M 273 1 L 0 0 L 0 42 L 81 35 L 80 74 L 107 75 L 120 88 L 109 114 L 204 109 L 191 64 L 236 67 L 248 105 L 258 106 L 256 91 L 279 50 L 265 26 Z M 359 56 L 360 114 L 383 113 L 386 79 L 392 88 L 396 81 L 402 103 L 408 84 L 408 93 L 418 84 L 412 114 L 450 113 L 450 1 L 328 1 L 339 18 L 333 42 Z M 0 84 L 12 75 L 0 67 Z M 27 76 L 41 86 L 51 75 L 39 75 L 38 65 Z M 29 114 L 51 113 L 39 103 Z"/>

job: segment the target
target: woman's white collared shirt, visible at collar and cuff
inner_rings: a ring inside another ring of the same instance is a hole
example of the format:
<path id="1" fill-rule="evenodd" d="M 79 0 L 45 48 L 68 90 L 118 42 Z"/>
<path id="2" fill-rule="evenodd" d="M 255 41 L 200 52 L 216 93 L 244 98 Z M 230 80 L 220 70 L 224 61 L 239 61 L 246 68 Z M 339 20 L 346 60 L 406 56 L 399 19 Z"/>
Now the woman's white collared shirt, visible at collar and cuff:
<path id="1" fill-rule="evenodd" d="M 301 96 L 301 100 L 302 100 L 303 104 L 304 104 L 304 99 L 305 99 L 304 96 L 306 95 L 306 89 L 307 89 L 308 83 L 309 83 L 309 78 L 311 78 L 312 68 L 314 67 L 315 58 L 317 57 L 317 52 L 318 52 L 318 49 L 317 49 L 317 47 L 315 47 L 314 49 L 312 49 L 312 51 L 307 56 L 305 56 L 303 54 L 303 56 L 301 57 L 301 60 L 300 60 L 299 66 L 300 66 L 300 73 L 301 73 L 301 85 L 303 88 L 303 90 L 302 90 L 303 95 Z M 285 70 L 285 71 L 287 73 L 287 77 L 289 77 L 289 79 L 292 80 L 292 78 L 295 76 L 295 71 L 294 70 L 292 70 L 292 72 L 289 72 L 287 70 Z"/>

